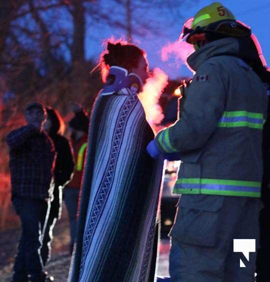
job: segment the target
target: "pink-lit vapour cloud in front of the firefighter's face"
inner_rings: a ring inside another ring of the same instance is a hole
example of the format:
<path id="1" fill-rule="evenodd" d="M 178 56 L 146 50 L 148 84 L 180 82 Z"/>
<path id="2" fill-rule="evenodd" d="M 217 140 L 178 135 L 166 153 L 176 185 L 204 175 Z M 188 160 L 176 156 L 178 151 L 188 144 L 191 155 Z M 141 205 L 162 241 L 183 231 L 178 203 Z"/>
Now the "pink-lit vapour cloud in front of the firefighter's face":
<path id="1" fill-rule="evenodd" d="M 185 41 L 175 41 L 173 43 L 168 43 L 161 49 L 161 59 L 162 61 L 167 61 L 170 57 L 175 60 L 176 68 L 185 64 L 187 68 L 194 73 L 194 71 L 189 67 L 186 62 L 187 57 L 194 52 L 192 44 Z"/>

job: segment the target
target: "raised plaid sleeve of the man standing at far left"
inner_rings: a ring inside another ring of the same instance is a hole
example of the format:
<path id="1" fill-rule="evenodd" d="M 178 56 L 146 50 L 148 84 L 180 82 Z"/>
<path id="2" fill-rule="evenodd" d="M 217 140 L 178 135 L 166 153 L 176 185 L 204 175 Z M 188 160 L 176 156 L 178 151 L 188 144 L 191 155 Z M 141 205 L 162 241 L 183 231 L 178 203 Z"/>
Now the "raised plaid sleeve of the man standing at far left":
<path id="1" fill-rule="evenodd" d="M 19 149 L 29 137 L 38 133 L 32 125 L 26 125 L 11 131 L 6 138 L 10 150 Z"/>

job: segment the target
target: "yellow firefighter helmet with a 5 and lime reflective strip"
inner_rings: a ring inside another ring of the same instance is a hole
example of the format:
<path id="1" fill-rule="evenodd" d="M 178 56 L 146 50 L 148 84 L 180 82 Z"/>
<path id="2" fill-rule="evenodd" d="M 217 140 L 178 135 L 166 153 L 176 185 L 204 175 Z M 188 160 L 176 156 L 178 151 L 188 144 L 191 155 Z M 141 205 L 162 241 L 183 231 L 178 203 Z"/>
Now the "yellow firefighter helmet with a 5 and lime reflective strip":
<path id="1" fill-rule="evenodd" d="M 185 37 L 186 42 L 190 44 L 196 45 L 198 41 L 251 34 L 250 28 L 236 21 L 232 12 L 220 2 L 213 2 L 203 7 L 195 14 L 192 21 L 190 19 L 188 21 L 189 24 L 184 24 L 179 39 Z"/>

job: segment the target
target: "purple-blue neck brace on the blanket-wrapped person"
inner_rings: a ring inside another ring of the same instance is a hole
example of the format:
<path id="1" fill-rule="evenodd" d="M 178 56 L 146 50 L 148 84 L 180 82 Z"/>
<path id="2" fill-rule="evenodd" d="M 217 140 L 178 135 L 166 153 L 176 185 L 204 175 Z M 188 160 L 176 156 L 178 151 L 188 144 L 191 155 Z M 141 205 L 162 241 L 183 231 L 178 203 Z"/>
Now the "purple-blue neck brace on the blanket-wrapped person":
<path id="1" fill-rule="evenodd" d="M 111 66 L 107 75 L 102 94 L 112 94 L 126 87 L 132 93 L 138 94 L 142 90 L 142 81 L 135 73 L 129 73 L 127 69 L 119 66 Z"/>

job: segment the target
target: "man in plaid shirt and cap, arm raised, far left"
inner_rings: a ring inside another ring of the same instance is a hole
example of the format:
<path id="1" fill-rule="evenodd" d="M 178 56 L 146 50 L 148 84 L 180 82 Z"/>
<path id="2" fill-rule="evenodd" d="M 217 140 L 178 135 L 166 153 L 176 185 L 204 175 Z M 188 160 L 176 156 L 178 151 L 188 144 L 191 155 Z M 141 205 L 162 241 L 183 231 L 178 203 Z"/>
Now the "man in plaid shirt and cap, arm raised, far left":
<path id="1" fill-rule="evenodd" d="M 51 281 L 40 259 L 40 223 L 44 221 L 53 192 L 55 151 L 51 139 L 42 130 L 46 118 L 37 102 L 25 109 L 26 126 L 7 136 L 10 149 L 11 200 L 21 221 L 21 237 L 15 258 L 13 282 Z M 44 229 L 44 228 L 43 228 Z"/>

